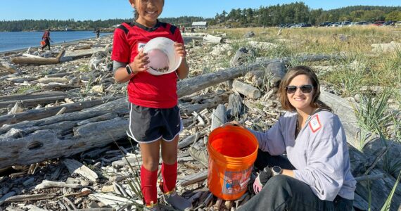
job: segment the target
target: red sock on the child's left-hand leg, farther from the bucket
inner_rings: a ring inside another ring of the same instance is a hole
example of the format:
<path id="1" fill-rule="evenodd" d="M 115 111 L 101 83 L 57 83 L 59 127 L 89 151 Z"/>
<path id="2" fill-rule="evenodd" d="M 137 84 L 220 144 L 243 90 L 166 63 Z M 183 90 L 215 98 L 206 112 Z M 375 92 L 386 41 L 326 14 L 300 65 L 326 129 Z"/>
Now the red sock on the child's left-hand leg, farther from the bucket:
<path id="1" fill-rule="evenodd" d="M 158 182 L 158 170 L 151 172 L 141 166 L 141 191 L 144 194 L 146 205 L 158 203 L 158 189 L 156 183 Z"/>

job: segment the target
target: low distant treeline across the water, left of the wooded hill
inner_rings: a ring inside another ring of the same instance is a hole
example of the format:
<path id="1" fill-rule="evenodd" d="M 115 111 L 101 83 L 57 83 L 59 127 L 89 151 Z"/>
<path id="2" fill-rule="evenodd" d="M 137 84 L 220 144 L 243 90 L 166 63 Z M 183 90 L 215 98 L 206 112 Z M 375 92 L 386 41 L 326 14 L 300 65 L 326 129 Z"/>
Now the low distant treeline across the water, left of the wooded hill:
<path id="1" fill-rule="evenodd" d="M 176 25 L 189 26 L 193 21 L 208 21 L 202 17 L 183 16 L 179 18 L 160 18 L 160 21 L 173 23 Z M 109 20 L 11 20 L 0 21 L 0 32 L 20 32 L 20 31 L 41 31 L 51 30 L 94 30 L 96 28 L 109 28 L 123 22 L 132 22 L 128 19 L 109 19 Z"/>

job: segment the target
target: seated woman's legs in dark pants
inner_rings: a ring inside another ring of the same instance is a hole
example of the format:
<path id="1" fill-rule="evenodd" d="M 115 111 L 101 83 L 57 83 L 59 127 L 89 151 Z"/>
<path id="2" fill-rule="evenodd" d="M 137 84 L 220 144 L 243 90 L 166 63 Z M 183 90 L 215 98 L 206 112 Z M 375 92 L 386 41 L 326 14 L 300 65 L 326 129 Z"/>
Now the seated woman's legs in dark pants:
<path id="1" fill-rule="evenodd" d="M 284 156 L 272 156 L 259 150 L 255 167 L 262 170 L 267 165 L 295 170 Z M 352 200 L 339 196 L 334 201 L 320 200 L 303 181 L 286 175 L 277 175 L 270 178 L 262 191 L 238 210 L 352 210 Z"/>

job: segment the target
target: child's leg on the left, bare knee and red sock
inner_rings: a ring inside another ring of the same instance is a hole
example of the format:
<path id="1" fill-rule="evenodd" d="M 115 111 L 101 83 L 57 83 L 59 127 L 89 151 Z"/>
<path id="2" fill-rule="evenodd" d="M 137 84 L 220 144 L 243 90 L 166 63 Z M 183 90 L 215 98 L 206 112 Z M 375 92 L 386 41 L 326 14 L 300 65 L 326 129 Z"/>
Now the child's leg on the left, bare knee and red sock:
<path id="1" fill-rule="evenodd" d="M 151 143 L 139 143 L 141 147 L 141 191 L 146 205 L 158 203 L 158 181 L 160 140 Z"/>

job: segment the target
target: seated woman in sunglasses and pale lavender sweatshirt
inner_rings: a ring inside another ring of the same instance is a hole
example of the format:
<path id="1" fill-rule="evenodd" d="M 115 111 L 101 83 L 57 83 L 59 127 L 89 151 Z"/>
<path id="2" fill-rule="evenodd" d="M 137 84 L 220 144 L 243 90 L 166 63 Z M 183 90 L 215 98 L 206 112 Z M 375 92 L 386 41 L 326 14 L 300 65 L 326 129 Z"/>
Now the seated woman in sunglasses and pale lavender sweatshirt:
<path id="1" fill-rule="evenodd" d="M 310 68 L 288 70 L 279 87 L 287 112 L 267 132 L 250 130 L 260 148 L 255 167 L 262 172 L 253 185 L 259 193 L 238 210 L 352 209 L 356 181 L 343 125 L 319 95 Z"/>

